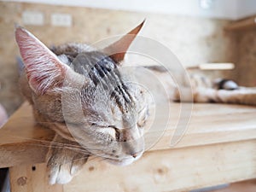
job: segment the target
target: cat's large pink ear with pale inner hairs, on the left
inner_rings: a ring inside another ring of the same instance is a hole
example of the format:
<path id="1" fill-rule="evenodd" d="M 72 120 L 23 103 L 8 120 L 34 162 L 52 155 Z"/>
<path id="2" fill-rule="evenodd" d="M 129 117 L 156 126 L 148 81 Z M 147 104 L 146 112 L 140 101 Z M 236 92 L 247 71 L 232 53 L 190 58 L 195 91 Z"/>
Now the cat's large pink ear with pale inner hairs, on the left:
<path id="1" fill-rule="evenodd" d="M 32 90 L 43 95 L 49 88 L 61 86 L 68 66 L 26 29 L 17 26 L 15 38 Z"/>

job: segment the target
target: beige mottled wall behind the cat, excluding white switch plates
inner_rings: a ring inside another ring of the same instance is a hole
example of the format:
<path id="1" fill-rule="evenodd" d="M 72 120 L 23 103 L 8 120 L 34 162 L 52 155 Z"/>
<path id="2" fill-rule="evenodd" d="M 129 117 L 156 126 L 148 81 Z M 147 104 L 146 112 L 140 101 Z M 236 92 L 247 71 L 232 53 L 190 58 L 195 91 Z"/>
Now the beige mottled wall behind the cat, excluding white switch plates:
<path id="1" fill-rule="evenodd" d="M 47 45 L 66 42 L 93 43 L 102 38 L 128 32 L 146 18 L 147 23 L 141 35 L 165 44 L 185 66 L 203 62 L 236 61 L 236 41 L 232 34 L 223 30 L 229 20 L 1 2 L 0 102 L 9 113 L 21 102 L 15 64 L 15 56 L 19 53 L 15 44 L 14 23 L 24 26 L 21 20 L 24 10 L 38 10 L 44 13 L 44 26 L 25 27 Z M 73 26 L 50 26 L 50 14 L 53 12 L 72 15 Z"/>

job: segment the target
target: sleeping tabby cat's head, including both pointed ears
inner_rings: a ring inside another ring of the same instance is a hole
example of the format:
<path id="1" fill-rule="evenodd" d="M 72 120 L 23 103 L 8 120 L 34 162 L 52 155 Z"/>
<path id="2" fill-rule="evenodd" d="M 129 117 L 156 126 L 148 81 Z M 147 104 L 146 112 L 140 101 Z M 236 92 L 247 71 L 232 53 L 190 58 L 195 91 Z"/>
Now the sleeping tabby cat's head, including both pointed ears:
<path id="1" fill-rule="evenodd" d="M 130 164 L 144 151 L 147 94 L 123 79 L 119 65 L 142 26 L 106 49 L 73 45 L 69 55 L 55 55 L 20 26 L 15 31 L 37 120 L 117 165 Z"/>

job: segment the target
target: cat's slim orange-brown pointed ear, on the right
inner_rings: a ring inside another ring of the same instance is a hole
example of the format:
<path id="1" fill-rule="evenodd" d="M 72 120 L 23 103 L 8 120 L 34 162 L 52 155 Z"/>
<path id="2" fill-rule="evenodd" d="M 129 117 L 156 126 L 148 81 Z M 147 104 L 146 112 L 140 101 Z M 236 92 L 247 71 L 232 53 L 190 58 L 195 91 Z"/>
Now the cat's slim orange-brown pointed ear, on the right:
<path id="1" fill-rule="evenodd" d="M 130 47 L 134 38 L 136 38 L 137 33 L 142 29 L 144 22 L 145 20 L 139 26 L 132 29 L 131 32 L 128 32 L 123 38 L 120 38 L 117 42 L 103 49 L 103 52 L 109 55 L 116 63 L 123 61 L 127 49 Z"/>

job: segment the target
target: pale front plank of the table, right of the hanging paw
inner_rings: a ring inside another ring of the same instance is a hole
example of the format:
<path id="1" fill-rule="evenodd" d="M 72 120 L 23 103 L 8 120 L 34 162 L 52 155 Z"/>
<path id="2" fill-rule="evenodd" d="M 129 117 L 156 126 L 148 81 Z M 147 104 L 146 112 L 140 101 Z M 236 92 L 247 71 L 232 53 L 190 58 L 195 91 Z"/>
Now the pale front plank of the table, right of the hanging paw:
<path id="1" fill-rule="evenodd" d="M 189 191 L 256 177 L 256 140 L 148 152 L 131 166 L 89 160 L 64 192 Z"/>

